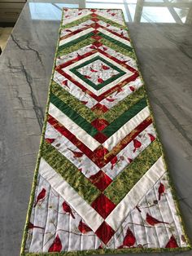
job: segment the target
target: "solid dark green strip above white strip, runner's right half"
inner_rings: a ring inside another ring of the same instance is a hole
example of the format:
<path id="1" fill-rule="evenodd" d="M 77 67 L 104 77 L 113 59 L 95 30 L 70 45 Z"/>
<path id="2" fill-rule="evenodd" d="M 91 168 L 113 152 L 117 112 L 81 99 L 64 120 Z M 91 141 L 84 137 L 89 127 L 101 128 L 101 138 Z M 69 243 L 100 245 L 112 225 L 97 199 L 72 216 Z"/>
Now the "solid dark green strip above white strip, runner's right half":
<path id="1" fill-rule="evenodd" d="M 119 130 L 120 127 L 124 126 L 124 124 L 129 121 L 131 118 L 137 115 L 143 108 L 147 106 L 146 97 L 140 99 L 137 104 L 134 104 L 131 108 L 125 111 L 120 117 L 117 117 L 116 120 L 112 121 L 109 126 L 107 126 L 102 133 L 110 137 L 113 135 L 116 130 Z"/>

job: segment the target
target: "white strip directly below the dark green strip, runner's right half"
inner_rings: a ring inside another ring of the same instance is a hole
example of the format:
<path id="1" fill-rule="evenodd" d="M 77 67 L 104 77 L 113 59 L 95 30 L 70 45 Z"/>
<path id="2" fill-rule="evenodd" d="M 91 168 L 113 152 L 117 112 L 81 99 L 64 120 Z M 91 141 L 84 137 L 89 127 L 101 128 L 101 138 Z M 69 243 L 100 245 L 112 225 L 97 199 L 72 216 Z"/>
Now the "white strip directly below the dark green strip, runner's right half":
<path id="1" fill-rule="evenodd" d="M 149 116 L 149 108 L 143 108 L 142 111 L 137 113 L 136 116 L 127 121 L 124 126 L 120 127 L 120 129 L 117 130 L 115 134 L 111 135 L 111 137 L 103 143 L 103 147 L 107 148 L 108 151 L 111 151 L 111 149 L 114 148 L 116 144 L 120 142 L 120 140 L 124 139 L 126 135 L 128 135 L 133 129 L 141 124 L 141 122 L 144 121 L 146 117 Z"/>

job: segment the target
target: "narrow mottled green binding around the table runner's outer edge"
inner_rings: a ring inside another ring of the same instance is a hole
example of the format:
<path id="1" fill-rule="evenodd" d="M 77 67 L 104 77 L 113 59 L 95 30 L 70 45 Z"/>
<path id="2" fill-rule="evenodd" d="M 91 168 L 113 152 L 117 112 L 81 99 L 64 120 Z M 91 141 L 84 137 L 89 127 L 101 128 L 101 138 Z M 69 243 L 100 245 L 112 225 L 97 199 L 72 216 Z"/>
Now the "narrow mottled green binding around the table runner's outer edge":
<path id="1" fill-rule="evenodd" d="M 79 9 L 89 9 L 89 8 L 79 8 Z M 103 8 L 102 9 L 96 8 L 96 9 L 103 10 Z M 120 10 L 122 12 L 122 16 L 123 16 L 123 19 L 124 19 L 124 13 L 123 13 L 122 9 L 111 9 L 111 10 Z M 59 25 L 59 38 L 60 38 L 61 29 L 62 29 L 62 21 L 63 21 L 63 12 L 62 12 L 61 23 Z M 124 27 L 125 27 L 124 29 L 126 29 L 128 34 L 129 34 L 130 43 L 131 43 L 131 46 L 133 47 L 133 41 L 130 38 L 129 29 L 127 28 L 125 20 L 124 20 Z M 147 106 L 150 109 L 151 118 L 152 118 L 152 121 L 153 121 L 153 126 L 155 127 L 156 139 L 159 142 L 159 146 L 161 148 L 161 152 L 162 152 L 162 156 L 163 156 L 164 166 L 166 167 L 166 170 L 167 170 L 168 181 L 169 181 L 169 185 L 170 185 L 170 188 L 171 188 L 173 201 L 176 205 L 177 215 L 180 219 L 182 231 L 185 235 L 185 241 L 186 241 L 188 246 L 186 246 L 186 247 L 177 247 L 177 248 L 89 249 L 89 250 L 81 250 L 81 251 L 78 250 L 78 251 L 70 251 L 70 252 L 67 252 L 67 251 L 64 252 L 63 251 L 63 252 L 60 252 L 60 253 L 25 253 L 24 252 L 24 247 L 25 247 L 25 243 L 26 243 L 26 240 L 27 240 L 27 236 L 28 236 L 28 223 L 30 221 L 31 211 L 32 211 L 32 208 L 33 208 L 33 200 L 34 200 L 35 190 L 36 190 L 36 186 L 37 186 L 37 174 L 38 174 L 38 169 L 39 169 L 40 159 L 41 159 L 41 148 L 42 148 L 42 145 L 43 145 L 43 139 L 44 139 L 44 135 L 45 135 L 45 132 L 46 132 L 46 122 L 47 122 L 48 110 L 49 110 L 49 105 L 50 105 L 50 90 L 51 90 L 52 79 L 53 79 L 54 72 L 55 72 L 55 63 L 56 63 L 57 50 L 58 50 L 58 46 L 59 46 L 59 38 L 58 38 L 58 41 L 57 41 L 57 46 L 55 48 L 54 65 L 53 65 L 52 73 L 51 73 L 51 77 L 50 77 L 50 84 L 49 84 L 49 90 L 48 90 L 48 99 L 47 99 L 47 102 L 46 102 L 46 113 L 45 113 L 43 128 L 42 128 L 42 132 L 41 132 L 41 141 L 40 141 L 40 146 L 39 146 L 39 152 L 38 152 L 38 155 L 37 155 L 36 167 L 35 167 L 35 170 L 34 170 L 33 184 L 32 184 L 32 190 L 31 190 L 31 194 L 30 194 L 29 204 L 28 204 L 28 212 L 27 212 L 26 222 L 25 222 L 25 225 L 24 225 L 24 235 L 23 235 L 23 239 L 22 239 L 22 243 L 21 243 L 20 256 L 50 256 L 50 255 L 52 255 L 52 256 L 76 256 L 76 255 L 94 255 L 94 254 L 147 253 L 147 252 L 148 253 L 149 252 L 158 253 L 158 252 L 173 252 L 173 251 L 191 250 L 192 245 L 190 243 L 190 239 L 189 239 L 187 233 L 185 232 L 185 224 L 183 223 L 180 206 L 179 206 L 178 201 L 177 201 L 177 193 L 174 189 L 174 186 L 173 186 L 173 183 L 172 183 L 172 178 L 171 178 L 170 173 L 168 171 L 168 164 L 165 161 L 166 157 L 165 157 L 165 153 L 164 153 L 164 148 L 163 148 L 162 143 L 159 140 L 159 132 L 158 132 L 157 126 L 155 124 L 154 114 L 153 114 L 153 111 L 152 111 L 152 108 L 151 108 L 151 104 L 150 104 L 148 95 L 146 94 L 146 84 L 143 80 L 142 73 L 141 73 L 141 70 L 139 68 L 139 64 L 138 64 L 138 60 L 137 60 L 137 55 L 136 55 L 136 52 L 135 52 L 134 47 L 133 47 L 133 54 L 135 55 L 135 60 L 136 60 L 136 63 L 137 63 L 138 73 L 139 73 L 139 76 L 141 77 L 141 80 L 142 80 L 142 83 L 143 83 L 143 86 L 144 86 L 144 89 L 145 89 L 144 94 L 146 96 Z"/>

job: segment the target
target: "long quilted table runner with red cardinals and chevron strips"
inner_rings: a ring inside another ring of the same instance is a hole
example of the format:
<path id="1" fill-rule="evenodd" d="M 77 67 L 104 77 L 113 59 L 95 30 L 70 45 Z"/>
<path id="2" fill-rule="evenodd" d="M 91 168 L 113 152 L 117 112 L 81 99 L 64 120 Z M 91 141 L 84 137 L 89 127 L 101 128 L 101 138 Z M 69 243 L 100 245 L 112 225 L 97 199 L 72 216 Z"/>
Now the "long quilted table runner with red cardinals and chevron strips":
<path id="1" fill-rule="evenodd" d="M 64 9 L 21 255 L 189 247 L 122 11 Z"/>

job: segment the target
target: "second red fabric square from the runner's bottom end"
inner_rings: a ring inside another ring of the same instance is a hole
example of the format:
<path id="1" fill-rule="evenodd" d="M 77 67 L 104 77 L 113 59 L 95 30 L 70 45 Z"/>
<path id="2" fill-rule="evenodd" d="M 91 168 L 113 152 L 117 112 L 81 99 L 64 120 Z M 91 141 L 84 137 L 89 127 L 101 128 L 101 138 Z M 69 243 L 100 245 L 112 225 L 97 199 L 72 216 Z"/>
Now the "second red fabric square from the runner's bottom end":
<path id="1" fill-rule="evenodd" d="M 107 218 L 108 214 L 116 207 L 116 205 L 107 198 L 107 196 L 100 194 L 91 204 L 91 206 L 103 218 Z"/>

